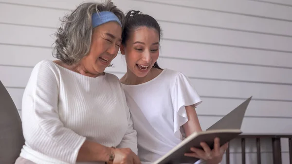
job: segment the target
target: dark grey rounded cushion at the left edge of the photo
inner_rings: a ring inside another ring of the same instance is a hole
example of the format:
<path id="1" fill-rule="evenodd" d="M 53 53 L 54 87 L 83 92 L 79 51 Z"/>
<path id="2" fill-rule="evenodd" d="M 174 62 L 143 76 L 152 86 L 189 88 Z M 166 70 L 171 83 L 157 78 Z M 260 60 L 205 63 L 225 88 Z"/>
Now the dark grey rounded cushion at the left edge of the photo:
<path id="1" fill-rule="evenodd" d="M 14 164 L 23 145 L 18 110 L 0 81 L 0 164 Z"/>

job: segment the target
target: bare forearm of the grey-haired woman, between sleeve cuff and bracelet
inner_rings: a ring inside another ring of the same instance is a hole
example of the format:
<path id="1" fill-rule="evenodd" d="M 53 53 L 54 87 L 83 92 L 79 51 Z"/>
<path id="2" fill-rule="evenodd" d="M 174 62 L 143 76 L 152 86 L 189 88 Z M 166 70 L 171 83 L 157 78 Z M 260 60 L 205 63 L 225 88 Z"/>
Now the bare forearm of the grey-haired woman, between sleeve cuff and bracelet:
<path id="1" fill-rule="evenodd" d="M 102 161 L 107 162 L 110 157 L 111 148 L 86 140 L 78 152 L 78 162 Z"/>

